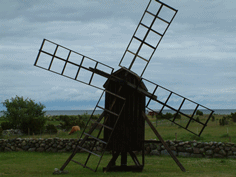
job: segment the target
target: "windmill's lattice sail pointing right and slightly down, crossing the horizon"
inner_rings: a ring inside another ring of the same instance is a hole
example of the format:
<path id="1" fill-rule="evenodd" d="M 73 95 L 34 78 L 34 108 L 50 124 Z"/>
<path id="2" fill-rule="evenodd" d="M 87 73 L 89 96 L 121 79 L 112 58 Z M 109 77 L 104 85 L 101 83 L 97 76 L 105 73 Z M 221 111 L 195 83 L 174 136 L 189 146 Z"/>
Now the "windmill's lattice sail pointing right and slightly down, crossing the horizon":
<path id="1" fill-rule="evenodd" d="M 175 92 L 172 92 L 158 84 L 155 84 L 147 79 L 142 78 L 142 81 L 146 85 L 146 87 L 152 88 L 152 91 L 149 90 L 149 92 L 152 93 L 152 95 L 156 95 L 157 99 L 149 98 L 146 104 L 146 109 L 155 112 L 157 115 L 161 115 L 163 110 L 165 108 L 171 110 L 172 112 L 175 112 L 174 117 L 169 118 L 168 120 L 171 121 L 172 123 L 182 127 L 183 129 L 189 131 L 190 133 L 200 136 L 207 126 L 208 121 L 210 120 L 211 116 L 213 115 L 214 111 L 200 105 L 186 97 L 183 97 Z M 149 86 L 148 86 L 149 85 Z M 161 94 L 160 94 L 161 92 Z M 151 109 L 150 105 L 154 103 L 159 107 L 159 110 L 156 109 Z M 184 110 L 186 111 L 186 108 L 191 108 L 189 109 L 188 113 L 185 113 Z M 204 110 L 209 114 L 208 117 L 204 118 L 203 120 L 199 120 L 195 118 L 194 116 L 196 115 L 197 110 Z M 177 121 L 178 115 L 181 115 L 184 119 L 184 122 L 182 121 Z M 183 125 L 184 123 L 184 125 Z M 193 131 L 193 123 L 197 123 L 201 128 L 197 132 Z"/>

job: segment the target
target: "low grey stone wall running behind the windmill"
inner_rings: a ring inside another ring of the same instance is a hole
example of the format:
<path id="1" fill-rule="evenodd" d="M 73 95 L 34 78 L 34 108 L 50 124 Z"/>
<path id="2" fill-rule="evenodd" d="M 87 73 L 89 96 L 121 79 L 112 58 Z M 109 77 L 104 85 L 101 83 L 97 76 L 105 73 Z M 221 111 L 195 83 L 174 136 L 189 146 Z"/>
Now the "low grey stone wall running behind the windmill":
<path id="1" fill-rule="evenodd" d="M 72 152 L 76 147 L 76 143 L 77 139 L 60 138 L 0 139 L 0 151 Z M 169 140 L 166 143 L 176 156 L 236 158 L 236 144 L 234 143 Z M 83 147 L 89 148 L 92 145 L 93 141 L 87 141 Z M 97 142 L 94 151 L 101 152 L 102 146 L 102 143 Z M 169 155 L 161 143 L 146 143 L 145 154 Z"/>

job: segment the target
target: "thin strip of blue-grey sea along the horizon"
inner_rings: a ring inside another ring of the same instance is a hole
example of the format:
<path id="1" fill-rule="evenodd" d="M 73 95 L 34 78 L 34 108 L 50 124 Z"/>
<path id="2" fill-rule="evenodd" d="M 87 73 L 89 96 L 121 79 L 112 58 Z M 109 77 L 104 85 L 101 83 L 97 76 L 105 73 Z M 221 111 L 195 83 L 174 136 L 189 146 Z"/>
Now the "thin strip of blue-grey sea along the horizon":
<path id="1" fill-rule="evenodd" d="M 45 110 L 46 111 L 46 115 L 48 116 L 53 116 L 53 115 L 83 115 L 83 114 L 89 114 L 91 115 L 93 113 L 93 110 Z M 185 114 L 192 114 L 193 110 L 191 109 L 185 109 L 185 110 L 181 110 L 183 113 Z M 203 114 L 207 114 L 209 112 L 206 112 L 205 110 L 201 110 L 200 111 L 203 112 Z M 227 115 L 227 114 L 231 114 L 231 113 L 235 113 L 236 109 L 215 109 L 214 110 L 214 114 L 219 114 L 219 115 Z M 102 110 L 96 110 L 93 114 L 97 115 L 97 114 L 101 114 Z M 147 113 L 147 111 L 146 111 Z M 172 113 L 174 114 L 175 112 L 172 110 L 163 110 L 162 111 L 163 114 L 166 113 Z M 0 116 L 2 116 L 3 113 L 0 112 Z"/>

